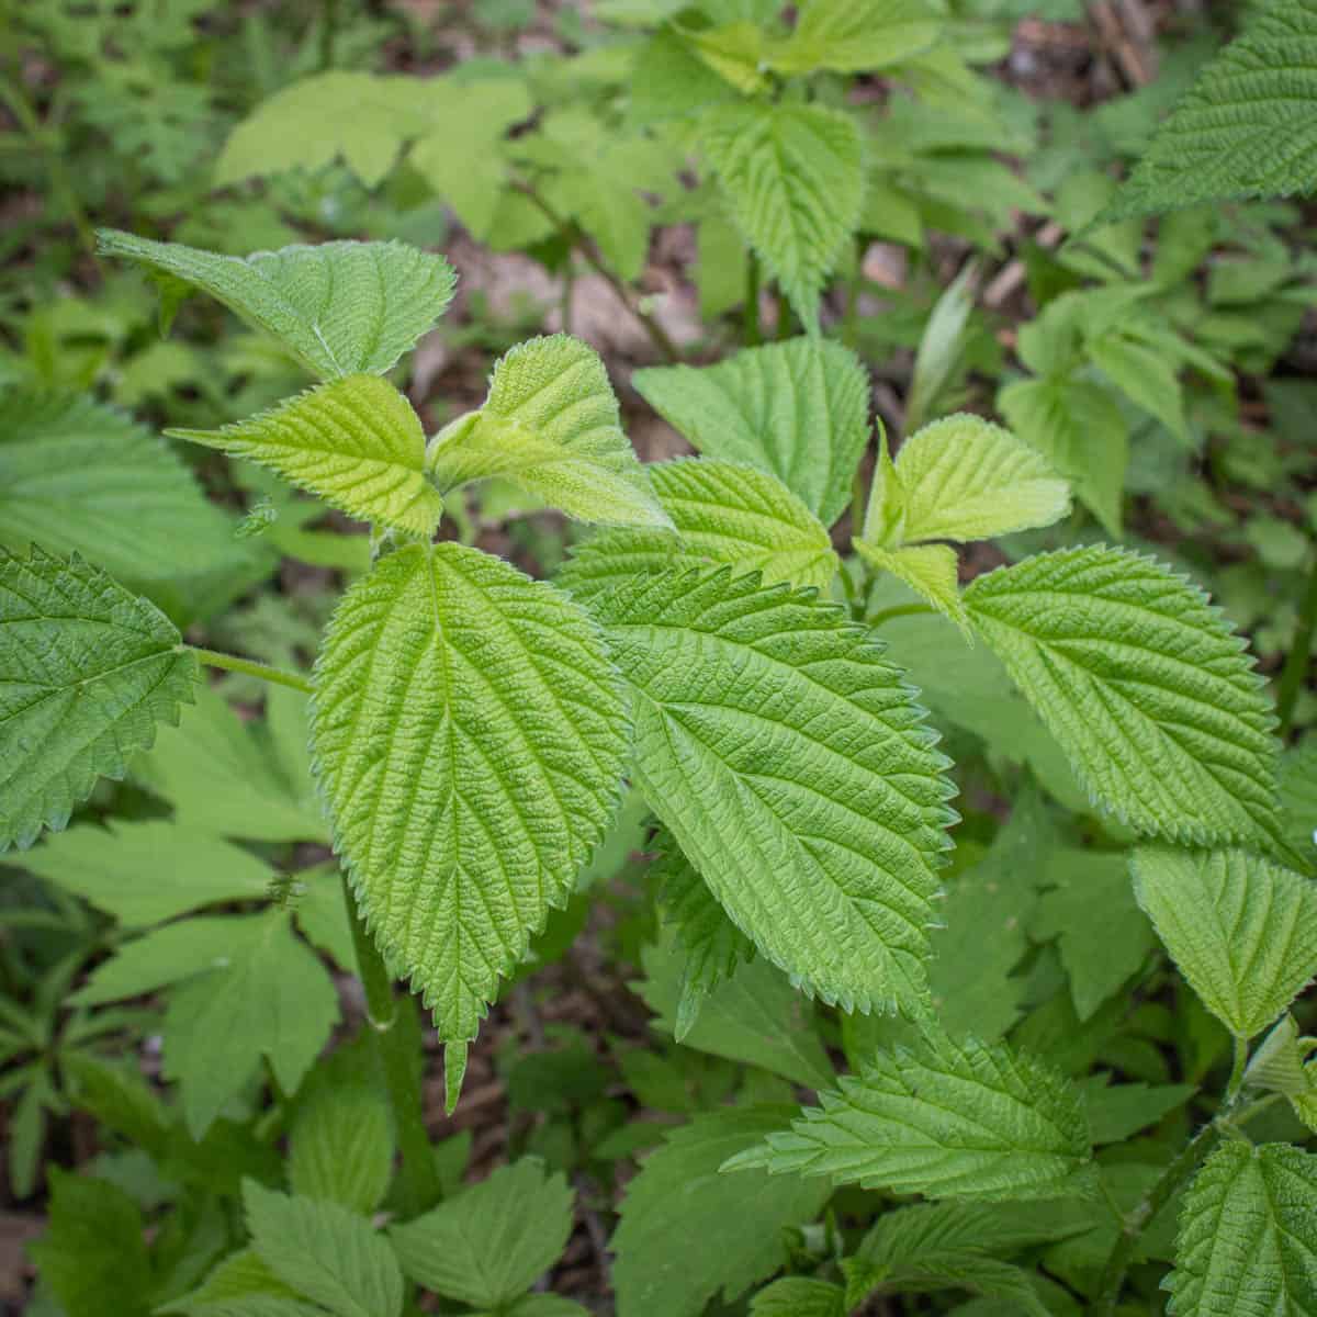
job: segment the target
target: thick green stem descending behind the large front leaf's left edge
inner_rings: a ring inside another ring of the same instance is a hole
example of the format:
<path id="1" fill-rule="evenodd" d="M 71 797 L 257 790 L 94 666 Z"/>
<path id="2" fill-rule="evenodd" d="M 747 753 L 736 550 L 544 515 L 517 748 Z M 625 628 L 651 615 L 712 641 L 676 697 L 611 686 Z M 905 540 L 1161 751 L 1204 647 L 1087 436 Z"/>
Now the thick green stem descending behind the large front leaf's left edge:
<path id="1" fill-rule="evenodd" d="M 398 1148 L 402 1152 L 402 1169 L 398 1176 L 399 1206 L 404 1217 L 415 1217 L 439 1202 L 443 1188 L 421 1110 L 419 1056 L 412 1038 L 408 1036 L 414 1031 L 408 1030 L 402 1019 L 385 957 L 381 956 L 375 939 L 366 927 L 361 907 L 357 905 L 357 896 L 346 876 L 342 889 L 352 918 L 357 972 L 366 994 L 366 1021 L 374 1038 L 385 1087 L 389 1089 Z M 410 998 L 404 998 L 403 1009 L 412 1009 Z"/>

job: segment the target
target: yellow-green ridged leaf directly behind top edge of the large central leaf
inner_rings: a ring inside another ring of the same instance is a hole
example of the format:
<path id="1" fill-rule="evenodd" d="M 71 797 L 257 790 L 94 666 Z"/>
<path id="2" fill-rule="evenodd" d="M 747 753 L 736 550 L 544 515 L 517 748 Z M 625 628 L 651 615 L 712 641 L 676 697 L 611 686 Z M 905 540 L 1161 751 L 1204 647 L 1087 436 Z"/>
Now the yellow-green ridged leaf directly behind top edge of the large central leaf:
<path id="1" fill-rule="evenodd" d="M 776 475 L 710 458 L 647 468 L 677 537 L 661 531 L 607 531 L 586 540 L 557 583 L 589 601 L 641 572 L 726 562 L 759 572 L 764 585 L 826 591 L 838 557 L 827 528 Z"/>

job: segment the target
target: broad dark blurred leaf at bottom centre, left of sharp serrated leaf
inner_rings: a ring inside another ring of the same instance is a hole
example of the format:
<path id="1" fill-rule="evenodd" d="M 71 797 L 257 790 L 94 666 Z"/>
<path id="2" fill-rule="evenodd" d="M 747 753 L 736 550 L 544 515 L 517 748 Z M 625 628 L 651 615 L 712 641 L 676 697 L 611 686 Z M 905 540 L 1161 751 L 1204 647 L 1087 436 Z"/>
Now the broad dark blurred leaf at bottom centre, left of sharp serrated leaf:
<path id="1" fill-rule="evenodd" d="M 618 1317 L 699 1317 L 719 1291 L 732 1303 L 786 1262 L 784 1231 L 813 1221 L 828 1187 L 718 1168 L 789 1115 L 776 1106 L 706 1112 L 645 1158 L 611 1243 Z"/>

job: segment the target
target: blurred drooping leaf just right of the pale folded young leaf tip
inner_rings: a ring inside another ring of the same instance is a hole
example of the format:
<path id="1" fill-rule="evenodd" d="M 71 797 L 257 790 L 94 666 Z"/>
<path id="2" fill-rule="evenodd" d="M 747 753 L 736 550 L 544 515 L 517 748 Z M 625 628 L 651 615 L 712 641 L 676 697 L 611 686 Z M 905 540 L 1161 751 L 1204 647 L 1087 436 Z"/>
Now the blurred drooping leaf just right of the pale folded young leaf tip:
<path id="1" fill-rule="evenodd" d="M 1084 379 L 1019 379 L 997 406 L 1013 429 L 1075 485 L 1075 495 L 1112 536 L 1121 535 L 1121 497 L 1130 436 L 1115 399 Z"/>

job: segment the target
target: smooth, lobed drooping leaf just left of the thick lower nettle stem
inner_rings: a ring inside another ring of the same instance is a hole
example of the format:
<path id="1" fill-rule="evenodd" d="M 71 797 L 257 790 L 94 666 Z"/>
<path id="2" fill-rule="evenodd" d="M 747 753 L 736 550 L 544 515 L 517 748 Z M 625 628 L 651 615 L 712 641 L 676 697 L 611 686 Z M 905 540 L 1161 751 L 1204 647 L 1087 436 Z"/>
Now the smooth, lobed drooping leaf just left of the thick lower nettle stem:
<path id="1" fill-rule="evenodd" d="M 286 911 L 228 923 L 241 936 L 223 967 L 175 989 L 165 1014 L 165 1073 L 182 1088 L 195 1139 L 262 1059 L 284 1092 L 296 1092 L 338 1021 L 333 980 L 292 935 Z"/>

